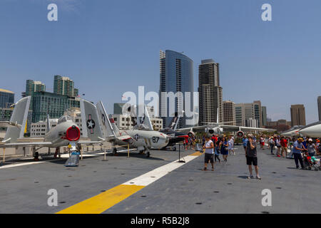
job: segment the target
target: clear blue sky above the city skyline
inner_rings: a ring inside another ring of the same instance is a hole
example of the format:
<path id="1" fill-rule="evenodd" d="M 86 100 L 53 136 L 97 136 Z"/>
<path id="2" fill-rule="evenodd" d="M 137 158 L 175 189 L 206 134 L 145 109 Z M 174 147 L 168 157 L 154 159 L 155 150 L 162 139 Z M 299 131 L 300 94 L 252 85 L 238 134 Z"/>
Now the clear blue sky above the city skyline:
<path id="1" fill-rule="evenodd" d="M 47 6 L 58 6 L 58 21 Z M 272 21 L 261 6 L 272 5 Z M 223 100 L 261 100 L 272 120 L 304 104 L 317 120 L 321 95 L 321 1 L 0 0 L 0 88 L 21 98 L 27 79 L 53 90 L 54 75 L 75 81 L 108 113 L 126 91 L 158 91 L 159 51 L 220 63 Z"/>

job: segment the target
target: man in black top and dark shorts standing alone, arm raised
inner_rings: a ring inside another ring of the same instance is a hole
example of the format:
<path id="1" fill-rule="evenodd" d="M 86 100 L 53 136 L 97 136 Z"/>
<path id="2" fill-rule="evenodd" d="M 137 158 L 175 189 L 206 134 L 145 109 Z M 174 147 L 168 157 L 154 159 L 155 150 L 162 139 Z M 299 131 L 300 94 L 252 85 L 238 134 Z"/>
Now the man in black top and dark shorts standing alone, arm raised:
<path id="1" fill-rule="evenodd" d="M 248 145 L 246 147 L 245 157 L 246 165 L 248 165 L 248 170 L 250 172 L 250 176 L 248 176 L 248 179 L 254 179 L 252 169 L 252 165 L 254 165 L 256 179 L 261 180 L 261 177 L 258 173 L 258 155 L 256 151 L 256 142 L 253 140 L 252 134 L 248 134 Z"/>

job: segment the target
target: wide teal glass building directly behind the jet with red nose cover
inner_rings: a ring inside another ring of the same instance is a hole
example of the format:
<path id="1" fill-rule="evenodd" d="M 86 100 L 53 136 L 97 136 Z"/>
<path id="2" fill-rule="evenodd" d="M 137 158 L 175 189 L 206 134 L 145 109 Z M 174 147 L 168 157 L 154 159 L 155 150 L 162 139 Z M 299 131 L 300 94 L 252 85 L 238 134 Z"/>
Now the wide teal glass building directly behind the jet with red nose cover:
<path id="1" fill-rule="evenodd" d="M 47 113 L 49 118 L 60 118 L 68 108 L 79 107 L 79 98 L 49 92 L 36 92 L 33 99 L 32 122 L 46 120 Z"/>

